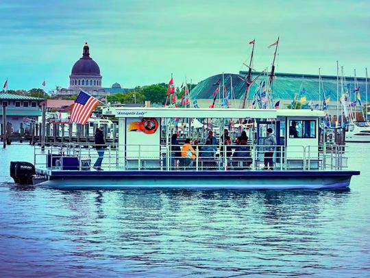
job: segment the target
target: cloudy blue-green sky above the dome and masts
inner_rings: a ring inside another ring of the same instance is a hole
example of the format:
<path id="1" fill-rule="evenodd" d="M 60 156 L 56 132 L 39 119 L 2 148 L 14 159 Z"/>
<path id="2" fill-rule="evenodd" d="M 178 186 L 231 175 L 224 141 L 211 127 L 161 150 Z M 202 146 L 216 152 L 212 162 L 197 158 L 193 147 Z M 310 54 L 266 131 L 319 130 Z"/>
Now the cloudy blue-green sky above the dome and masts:
<path id="1" fill-rule="evenodd" d="M 133 88 L 185 79 L 197 83 L 253 67 L 345 75 L 370 70 L 370 1 L 0 0 L 0 86 L 68 87 L 84 42 L 103 87 Z"/>

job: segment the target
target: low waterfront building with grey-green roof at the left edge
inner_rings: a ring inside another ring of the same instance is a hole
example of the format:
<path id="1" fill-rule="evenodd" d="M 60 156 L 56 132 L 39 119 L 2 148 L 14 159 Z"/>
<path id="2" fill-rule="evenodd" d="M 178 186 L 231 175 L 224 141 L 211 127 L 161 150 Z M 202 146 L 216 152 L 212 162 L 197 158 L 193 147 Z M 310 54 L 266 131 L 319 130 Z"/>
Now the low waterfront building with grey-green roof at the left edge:
<path id="1" fill-rule="evenodd" d="M 44 101 L 38 97 L 28 97 L 21 94 L 0 93 L 0 105 L 6 106 L 6 123 L 12 125 L 12 131 L 19 132 L 21 127 L 27 127 L 29 123 L 38 121 L 41 116 L 40 104 Z M 3 110 L 0 110 L 1 130 L 3 123 Z"/>

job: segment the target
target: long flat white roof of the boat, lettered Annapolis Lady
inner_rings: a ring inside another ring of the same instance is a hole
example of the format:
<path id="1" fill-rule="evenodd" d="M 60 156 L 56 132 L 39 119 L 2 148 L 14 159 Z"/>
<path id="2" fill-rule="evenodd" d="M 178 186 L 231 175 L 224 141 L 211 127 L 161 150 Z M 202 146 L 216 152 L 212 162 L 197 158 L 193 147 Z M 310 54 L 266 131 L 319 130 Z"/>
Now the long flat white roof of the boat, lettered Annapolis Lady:
<path id="1" fill-rule="evenodd" d="M 277 118 L 280 116 L 325 116 L 319 110 L 234 108 L 104 108 L 103 115 L 117 118 Z"/>

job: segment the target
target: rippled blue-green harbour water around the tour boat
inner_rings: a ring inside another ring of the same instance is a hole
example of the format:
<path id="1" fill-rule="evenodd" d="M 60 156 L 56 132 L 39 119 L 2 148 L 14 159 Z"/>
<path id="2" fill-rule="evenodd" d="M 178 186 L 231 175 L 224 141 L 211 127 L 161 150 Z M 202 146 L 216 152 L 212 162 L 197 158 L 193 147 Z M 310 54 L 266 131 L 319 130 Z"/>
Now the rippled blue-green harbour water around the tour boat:
<path id="1" fill-rule="evenodd" d="M 350 190 L 18 187 L 0 151 L 0 276 L 370 277 L 370 144 Z M 17 157 L 17 158 L 15 158 Z"/>

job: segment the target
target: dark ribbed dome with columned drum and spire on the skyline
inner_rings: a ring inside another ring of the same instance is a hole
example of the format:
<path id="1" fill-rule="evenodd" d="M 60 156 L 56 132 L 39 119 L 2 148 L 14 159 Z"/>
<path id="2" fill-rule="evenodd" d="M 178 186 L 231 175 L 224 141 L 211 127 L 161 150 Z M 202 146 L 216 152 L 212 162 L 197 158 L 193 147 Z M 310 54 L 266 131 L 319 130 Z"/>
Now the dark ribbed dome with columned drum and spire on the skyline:
<path id="1" fill-rule="evenodd" d="M 101 88 L 100 68 L 97 62 L 90 58 L 87 42 L 84 45 L 82 58 L 79 58 L 72 67 L 69 79 L 69 88 Z"/>

